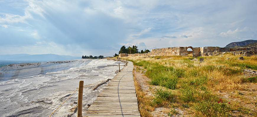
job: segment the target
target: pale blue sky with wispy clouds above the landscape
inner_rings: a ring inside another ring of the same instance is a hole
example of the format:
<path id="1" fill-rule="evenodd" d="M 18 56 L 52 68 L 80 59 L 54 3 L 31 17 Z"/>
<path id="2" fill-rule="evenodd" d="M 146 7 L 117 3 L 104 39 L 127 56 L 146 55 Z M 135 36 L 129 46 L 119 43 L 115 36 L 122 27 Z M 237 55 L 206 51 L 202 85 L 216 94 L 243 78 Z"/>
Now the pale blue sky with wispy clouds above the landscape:
<path id="1" fill-rule="evenodd" d="M 256 0 L 0 0 L 0 55 L 113 56 L 125 45 L 256 40 Z"/>

